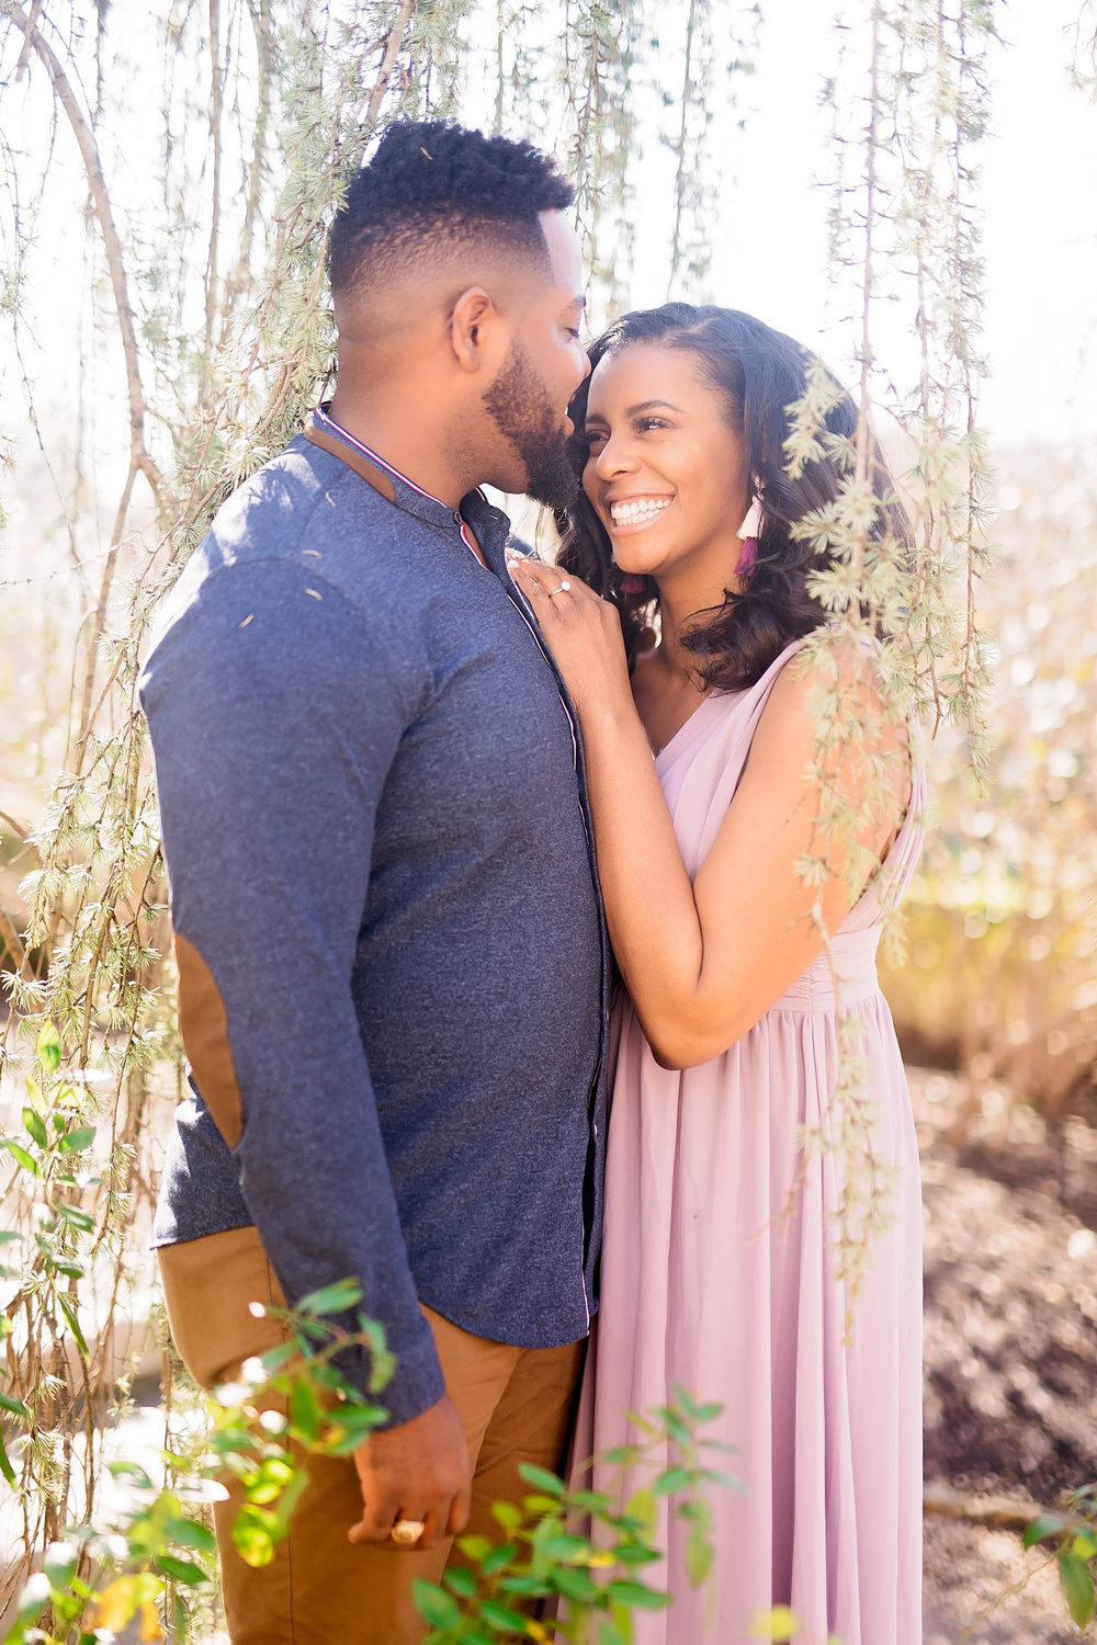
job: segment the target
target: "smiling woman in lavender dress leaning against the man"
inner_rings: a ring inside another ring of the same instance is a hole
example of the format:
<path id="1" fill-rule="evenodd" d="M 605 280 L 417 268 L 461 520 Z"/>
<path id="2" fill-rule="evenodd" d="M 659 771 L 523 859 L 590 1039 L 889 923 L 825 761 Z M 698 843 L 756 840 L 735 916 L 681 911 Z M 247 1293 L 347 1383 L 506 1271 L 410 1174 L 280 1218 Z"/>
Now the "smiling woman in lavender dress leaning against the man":
<path id="1" fill-rule="evenodd" d="M 811 576 L 832 556 L 819 530 L 794 530 L 837 497 L 855 411 L 829 396 L 793 479 L 788 408 L 809 357 L 791 339 L 668 304 L 625 316 L 590 360 L 561 561 L 511 561 L 579 711 L 628 990 L 582 1444 L 622 1444 L 625 1413 L 674 1383 L 724 1405 L 706 1433 L 735 1448 L 717 1466 L 747 1490 L 714 1494 L 699 1589 L 663 1504 L 674 1604 L 636 1619 L 643 1645 L 738 1645 L 778 1602 L 798 1645 L 829 1630 L 914 1645 L 918 1155 L 875 948 L 916 860 L 921 776 L 875 642 L 804 648 L 826 622 Z M 872 536 L 901 549 L 903 530 L 880 487 Z M 837 693 L 822 760 L 821 689 Z M 819 885 L 804 864 L 822 850 Z M 860 1132 L 855 1089 L 831 1102 L 842 1020 L 867 1069 Z M 834 1147 L 806 1150 L 804 1127 Z M 854 1301 L 835 1212 L 865 1171 L 888 1181 L 891 1221 Z"/>

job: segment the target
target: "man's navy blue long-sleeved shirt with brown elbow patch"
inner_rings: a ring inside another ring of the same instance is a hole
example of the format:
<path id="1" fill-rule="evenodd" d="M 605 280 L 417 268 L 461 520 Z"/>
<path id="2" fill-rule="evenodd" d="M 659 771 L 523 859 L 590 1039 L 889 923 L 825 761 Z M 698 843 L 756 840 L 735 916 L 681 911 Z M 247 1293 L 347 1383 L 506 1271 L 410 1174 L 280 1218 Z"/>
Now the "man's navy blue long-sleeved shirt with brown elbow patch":
<path id="1" fill-rule="evenodd" d="M 192 1064 L 155 1239 L 253 1222 L 289 1301 L 355 1277 L 405 1421 L 442 1393 L 419 1301 L 587 1331 L 610 967 L 507 517 L 321 438 L 224 505 L 141 679 Z"/>

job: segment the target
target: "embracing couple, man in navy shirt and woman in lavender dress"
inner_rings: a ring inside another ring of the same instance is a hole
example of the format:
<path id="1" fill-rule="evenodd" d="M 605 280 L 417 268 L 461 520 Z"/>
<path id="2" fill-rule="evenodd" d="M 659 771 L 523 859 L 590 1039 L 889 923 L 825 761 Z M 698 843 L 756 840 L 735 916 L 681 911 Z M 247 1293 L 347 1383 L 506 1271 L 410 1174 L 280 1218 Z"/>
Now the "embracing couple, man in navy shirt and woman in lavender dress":
<path id="1" fill-rule="evenodd" d="M 276 1342 L 248 1304 L 354 1277 L 396 1355 L 271 1566 L 219 1510 L 229 1632 L 411 1645 L 414 1578 L 520 1462 L 622 1444 L 679 1383 L 747 1490 L 711 1587 L 663 1527 L 674 1602 L 636 1638 L 742 1645 L 783 1602 L 803 1645 L 914 1645 L 918 1161 L 873 956 L 921 775 L 870 646 L 831 684 L 860 832 L 798 872 L 827 773 L 796 528 L 855 411 L 793 479 L 788 337 L 668 304 L 587 350 L 571 201 L 528 145 L 388 130 L 332 229 L 334 398 L 220 510 L 143 676 L 192 1071 L 176 1346 L 229 1380 Z M 556 512 L 556 564 L 482 484 Z M 849 1013 L 896 1186 L 847 1339 L 845 1163 L 801 1143 Z"/>

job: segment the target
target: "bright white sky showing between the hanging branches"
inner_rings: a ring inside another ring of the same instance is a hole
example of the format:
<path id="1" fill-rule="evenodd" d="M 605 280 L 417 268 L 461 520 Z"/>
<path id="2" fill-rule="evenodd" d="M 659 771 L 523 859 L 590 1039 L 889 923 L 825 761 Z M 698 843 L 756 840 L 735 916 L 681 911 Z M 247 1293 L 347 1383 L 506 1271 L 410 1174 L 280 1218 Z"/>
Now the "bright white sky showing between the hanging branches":
<path id="1" fill-rule="evenodd" d="M 837 56 L 835 12 L 849 25 L 854 49 L 863 49 L 868 3 L 763 0 L 757 72 L 738 87 L 747 132 L 722 132 L 717 123 L 717 158 L 729 179 L 719 192 L 714 179 L 712 191 L 714 299 L 748 309 L 816 347 L 847 380 L 854 329 L 842 313 L 849 303 L 835 291 L 827 268 L 827 192 L 819 184 L 829 176 L 832 160 L 819 90 Z M 987 257 L 984 344 L 992 368 L 982 390 L 982 421 L 998 444 L 1097 434 L 1097 104 L 1069 84 L 1072 28 L 1085 3 L 1000 0 L 997 7 L 1003 44 L 990 53 L 992 135 L 980 145 L 980 201 Z M 674 18 L 676 8 L 681 23 L 684 0 L 651 7 L 651 18 L 668 35 L 666 20 Z M 493 18 L 495 7 L 487 12 Z M 135 33 L 127 46 L 137 51 L 138 18 L 130 21 Z M 720 41 L 719 58 L 727 59 L 734 49 L 732 41 Z M 488 49 L 469 53 L 470 90 L 462 114 L 482 123 L 490 118 L 490 107 L 477 97 L 477 58 L 485 76 L 492 72 Z M 666 72 L 666 89 L 673 94 L 681 66 L 668 61 Z M 150 99 L 160 97 L 156 81 L 148 77 Z M 8 109 L 15 115 L 18 89 L 5 95 L 12 97 Z M 141 95 L 137 79 L 130 118 L 140 115 Z M 546 133 L 544 140 L 551 137 Z M 39 388 L 46 382 L 54 387 L 62 408 L 72 360 L 67 327 L 79 303 L 79 283 L 87 281 L 87 265 L 69 253 L 72 211 L 82 191 L 64 123 L 56 156 L 64 161 L 67 181 L 61 183 L 59 211 L 56 202 L 51 211 L 48 191 L 30 291 L 31 301 L 39 303 L 54 288 L 59 296 L 41 303 L 43 314 L 33 327 L 38 352 L 31 349 L 26 364 Z M 112 176 L 118 194 L 127 192 L 127 183 L 140 194 L 140 173 L 151 158 L 140 143 L 122 143 L 113 161 L 133 174 Z M 655 138 L 645 145 L 635 183 L 640 232 L 633 301 L 650 304 L 668 294 L 664 247 L 673 184 L 673 158 Z M 910 283 L 890 280 L 886 270 L 883 286 L 891 286 L 898 301 L 880 304 L 873 337 L 878 357 L 901 390 L 914 375 L 914 304 Z M 115 387 L 122 387 L 120 380 Z M 113 398 L 105 382 L 102 388 Z M 8 372 L 0 382 L 0 418 L 8 428 L 20 426 L 20 395 L 18 375 Z M 51 395 L 43 390 L 39 398 L 48 405 Z M 122 443 L 107 443 L 107 449 L 112 444 L 122 461 Z"/>

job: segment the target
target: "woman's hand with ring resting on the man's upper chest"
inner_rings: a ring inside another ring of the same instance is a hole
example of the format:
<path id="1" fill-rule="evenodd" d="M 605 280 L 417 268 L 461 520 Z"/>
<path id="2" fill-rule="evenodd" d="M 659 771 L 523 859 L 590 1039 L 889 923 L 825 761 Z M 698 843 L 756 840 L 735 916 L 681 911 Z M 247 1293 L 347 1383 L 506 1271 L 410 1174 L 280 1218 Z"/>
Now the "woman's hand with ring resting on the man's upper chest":
<path id="1" fill-rule="evenodd" d="M 622 706 L 633 711 L 617 607 L 559 566 L 543 566 L 515 549 L 507 549 L 507 564 L 533 605 L 541 638 L 564 676 L 579 717 Z"/>

